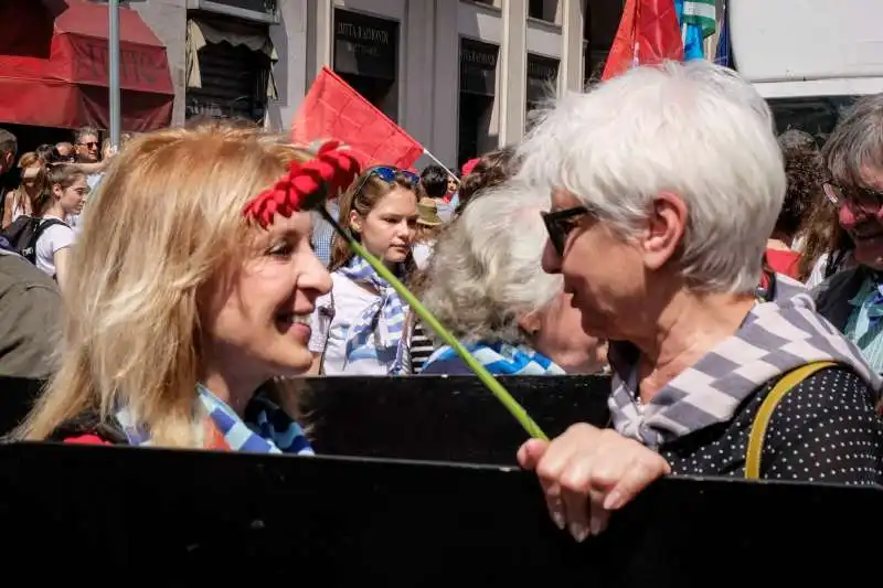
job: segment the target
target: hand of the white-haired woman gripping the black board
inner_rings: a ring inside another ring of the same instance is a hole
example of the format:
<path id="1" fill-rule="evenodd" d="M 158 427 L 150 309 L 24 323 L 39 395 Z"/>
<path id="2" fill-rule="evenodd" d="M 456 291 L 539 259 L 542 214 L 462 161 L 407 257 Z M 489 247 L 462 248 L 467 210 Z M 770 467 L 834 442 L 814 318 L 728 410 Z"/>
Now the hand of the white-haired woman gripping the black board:
<path id="1" fill-rule="evenodd" d="M 659 453 L 638 441 L 586 424 L 552 441 L 531 439 L 519 449 L 518 461 L 536 471 L 549 514 L 578 542 L 603 532 L 611 511 L 671 472 Z"/>

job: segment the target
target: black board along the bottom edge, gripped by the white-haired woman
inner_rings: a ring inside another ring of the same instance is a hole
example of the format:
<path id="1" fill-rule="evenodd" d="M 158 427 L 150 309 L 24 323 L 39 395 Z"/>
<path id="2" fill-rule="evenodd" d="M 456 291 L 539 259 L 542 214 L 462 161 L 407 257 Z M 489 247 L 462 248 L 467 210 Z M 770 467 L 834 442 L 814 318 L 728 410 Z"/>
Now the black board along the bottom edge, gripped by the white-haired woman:
<path id="1" fill-rule="evenodd" d="M 674 478 L 576 544 L 515 468 L 0 446 L 9 578 L 52 567 L 163 586 L 848 586 L 876 574 L 881 494 Z"/>

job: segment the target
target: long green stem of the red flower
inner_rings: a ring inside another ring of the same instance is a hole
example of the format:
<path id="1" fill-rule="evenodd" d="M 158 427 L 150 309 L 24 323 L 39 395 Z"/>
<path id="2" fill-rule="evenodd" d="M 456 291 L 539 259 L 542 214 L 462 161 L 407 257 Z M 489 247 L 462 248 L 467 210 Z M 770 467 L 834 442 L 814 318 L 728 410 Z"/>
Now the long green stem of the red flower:
<path id="1" fill-rule="evenodd" d="M 390 286 L 392 286 L 393 289 L 398 292 L 398 296 L 401 296 L 405 302 L 407 302 L 414 312 L 416 312 L 429 328 L 438 333 L 438 335 L 445 340 L 445 343 L 450 345 L 450 348 L 457 352 L 457 355 L 459 355 L 460 359 L 466 362 L 466 365 L 468 365 L 472 372 L 475 372 L 475 374 L 488 387 L 488 389 L 490 389 L 490 392 L 497 396 L 497 399 L 502 403 L 502 405 L 512 414 L 513 417 L 515 417 L 528 435 L 535 439 L 547 440 L 549 437 L 546 437 L 540 426 L 536 425 L 530 415 L 528 415 L 528 411 L 524 410 L 520 404 L 518 404 L 518 400 L 515 400 L 512 395 L 509 394 L 502 384 L 500 384 L 497 378 L 493 377 L 491 373 L 488 372 L 487 368 L 481 365 L 481 363 L 479 363 L 478 360 L 476 360 L 475 356 L 472 356 L 472 354 L 469 353 L 469 351 L 453 334 L 450 334 L 447 329 L 442 325 L 440 322 L 438 322 L 438 319 L 436 319 L 432 312 L 429 312 L 426 307 L 424 307 L 423 303 L 417 300 L 417 297 L 411 293 L 405 285 L 402 284 L 385 265 L 383 265 L 383 261 L 368 253 L 368 249 L 362 247 L 361 243 L 352 238 L 349 233 L 343 231 L 337 221 L 334 221 L 334 218 L 328 214 L 328 211 L 325 209 L 325 206 L 320 206 L 319 211 L 322 214 L 322 217 L 334 227 L 334 231 L 344 239 L 347 239 L 347 243 L 350 245 L 350 249 L 368 261 L 369 265 L 371 265 L 371 267 L 374 268 L 374 270 L 383 279 L 390 282 Z"/>

